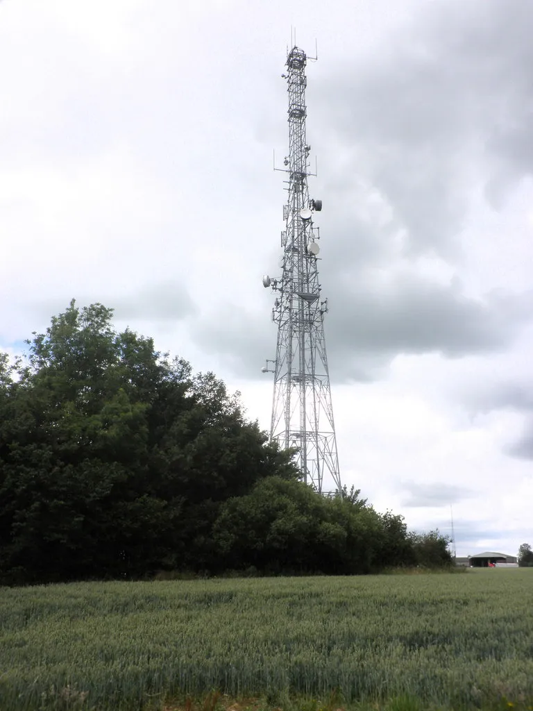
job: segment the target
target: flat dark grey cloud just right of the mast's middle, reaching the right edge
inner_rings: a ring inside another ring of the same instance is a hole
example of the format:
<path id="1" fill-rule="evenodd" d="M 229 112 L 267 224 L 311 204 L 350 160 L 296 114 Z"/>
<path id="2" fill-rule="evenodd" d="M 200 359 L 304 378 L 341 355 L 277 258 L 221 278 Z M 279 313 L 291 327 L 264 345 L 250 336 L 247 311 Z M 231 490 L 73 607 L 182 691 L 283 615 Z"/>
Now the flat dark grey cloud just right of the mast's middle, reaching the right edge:
<path id="1" fill-rule="evenodd" d="M 420 277 L 390 280 L 385 287 L 349 281 L 339 275 L 328 316 L 328 346 L 345 363 L 362 354 L 439 352 L 456 358 L 501 350 L 533 315 L 526 295 L 489 294 L 477 301 L 453 284 Z"/>

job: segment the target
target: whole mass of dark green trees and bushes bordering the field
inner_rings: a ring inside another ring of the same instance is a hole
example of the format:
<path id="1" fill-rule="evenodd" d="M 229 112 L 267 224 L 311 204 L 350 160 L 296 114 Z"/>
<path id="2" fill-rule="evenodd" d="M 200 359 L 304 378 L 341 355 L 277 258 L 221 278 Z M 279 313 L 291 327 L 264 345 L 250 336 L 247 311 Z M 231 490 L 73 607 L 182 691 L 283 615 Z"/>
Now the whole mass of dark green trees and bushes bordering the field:
<path id="1" fill-rule="evenodd" d="M 318 496 L 212 373 L 72 301 L 0 354 L 0 581 L 449 563 L 345 491 Z"/>

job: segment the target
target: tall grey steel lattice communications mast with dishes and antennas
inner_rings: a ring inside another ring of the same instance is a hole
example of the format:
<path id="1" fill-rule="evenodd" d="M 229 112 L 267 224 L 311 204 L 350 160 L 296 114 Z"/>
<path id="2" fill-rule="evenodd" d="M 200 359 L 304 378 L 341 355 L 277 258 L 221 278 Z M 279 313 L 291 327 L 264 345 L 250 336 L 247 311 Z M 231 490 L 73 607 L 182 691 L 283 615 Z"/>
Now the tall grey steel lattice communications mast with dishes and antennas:
<path id="1" fill-rule="evenodd" d="M 324 315 L 328 301 L 318 282 L 320 233 L 313 216 L 322 201 L 309 198 L 309 153 L 306 141 L 306 53 L 294 46 L 287 55 L 289 92 L 289 156 L 284 171 L 289 193 L 281 232 L 281 277 L 263 277 L 276 294 L 272 319 L 278 324 L 276 358 L 266 360 L 264 373 L 274 373 L 271 439 L 282 448 L 298 447 L 297 463 L 304 481 L 316 491 L 340 491 L 340 474 L 331 406 Z"/>

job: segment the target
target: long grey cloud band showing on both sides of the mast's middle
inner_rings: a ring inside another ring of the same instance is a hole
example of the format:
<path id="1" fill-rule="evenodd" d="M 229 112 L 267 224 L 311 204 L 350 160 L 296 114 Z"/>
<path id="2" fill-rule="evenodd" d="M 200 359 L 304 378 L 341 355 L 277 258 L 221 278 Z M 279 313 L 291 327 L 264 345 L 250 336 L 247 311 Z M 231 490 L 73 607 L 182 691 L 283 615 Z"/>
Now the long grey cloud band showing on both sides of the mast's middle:
<path id="1" fill-rule="evenodd" d="M 325 319 L 330 373 L 335 382 L 381 378 L 398 353 L 442 353 L 460 358 L 505 349 L 525 320 L 533 316 L 529 295 L 489 294 L 469 299 L 453 284 L 443 287 L 406 275 L 388 284 L 352 284 L 338 274 L 329 291 Z M 270 304 L 245 310 L 226 304 L 217 314 L 197 319 L 193 338 L 219 354 L 243 377 L 259 377 L 265 358 L 274 358 L 275 329 Z"/>

